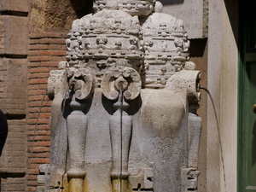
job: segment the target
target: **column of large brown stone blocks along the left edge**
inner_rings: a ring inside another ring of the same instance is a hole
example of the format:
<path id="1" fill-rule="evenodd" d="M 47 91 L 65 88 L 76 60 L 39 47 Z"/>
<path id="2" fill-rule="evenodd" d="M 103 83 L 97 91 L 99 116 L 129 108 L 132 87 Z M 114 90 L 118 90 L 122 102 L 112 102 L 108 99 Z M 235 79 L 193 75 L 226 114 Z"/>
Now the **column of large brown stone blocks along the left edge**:
<path id="1" fill-rule="evenodd" d="M 26 191 L 27 0 L 0 1 L 0 109 L 9 135 L 0 159 L 2 191 Z"/>

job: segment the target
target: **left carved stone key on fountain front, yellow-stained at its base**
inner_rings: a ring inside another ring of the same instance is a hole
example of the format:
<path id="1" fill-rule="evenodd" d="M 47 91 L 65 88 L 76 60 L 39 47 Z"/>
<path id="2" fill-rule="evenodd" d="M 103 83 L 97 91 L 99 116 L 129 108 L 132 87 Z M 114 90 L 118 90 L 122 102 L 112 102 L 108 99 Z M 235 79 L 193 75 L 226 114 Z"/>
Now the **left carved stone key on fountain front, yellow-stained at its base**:
<path id="1" fill-rule="evenodd" d="M 70 179 L 69 189 L 83 189 L 84 153 L 88 117 L 84 112 L 86 102 L 94 90 L 95 78 L 90 69 L 70 67 L 66 71 L 68 80 L 67 101 L 72 112 L 67 116 L 67 142 L 70 165 L 67 176 Z"/>

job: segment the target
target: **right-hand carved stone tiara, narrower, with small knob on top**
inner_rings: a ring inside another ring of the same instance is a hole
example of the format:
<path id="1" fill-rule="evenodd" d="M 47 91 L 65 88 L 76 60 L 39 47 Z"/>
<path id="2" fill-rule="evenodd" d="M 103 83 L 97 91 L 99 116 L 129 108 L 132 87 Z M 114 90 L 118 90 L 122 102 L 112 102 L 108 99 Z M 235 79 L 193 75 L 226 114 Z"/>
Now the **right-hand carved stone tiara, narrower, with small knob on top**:
<path id="1" fill-rule="evenodd" d="M 182 21 L 161 14 L 161 9 L 157 2 L 155 13 L 143 24 L 146 88 L 165 88 L 166 81 L 189 60 L 189 40 Z"/>

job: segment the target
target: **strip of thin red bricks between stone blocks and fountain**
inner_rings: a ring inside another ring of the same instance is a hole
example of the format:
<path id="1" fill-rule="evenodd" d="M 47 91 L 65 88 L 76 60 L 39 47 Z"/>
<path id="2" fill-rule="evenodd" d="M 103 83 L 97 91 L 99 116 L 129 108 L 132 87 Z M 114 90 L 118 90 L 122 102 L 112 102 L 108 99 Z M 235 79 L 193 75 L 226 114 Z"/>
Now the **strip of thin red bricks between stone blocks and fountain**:
<path id="1" fill-rule="evenodd" d="M 57 69 L 59 61 L 66 61 L 67 32 L 41 32 L 30 34 L 28 52 L 28 181 L 27 191 L 36 191 L 38 167 L 49 163 L 51 102 L 44 96 L 49 71 Z M 42 100 L 44 99 L 44 102 Z M 42 108 L 40 110 L 40 106 Z M 40 116 L 38 113 L 40 110 Z M 38 125 L 36 125 L 38 122 Z"/>

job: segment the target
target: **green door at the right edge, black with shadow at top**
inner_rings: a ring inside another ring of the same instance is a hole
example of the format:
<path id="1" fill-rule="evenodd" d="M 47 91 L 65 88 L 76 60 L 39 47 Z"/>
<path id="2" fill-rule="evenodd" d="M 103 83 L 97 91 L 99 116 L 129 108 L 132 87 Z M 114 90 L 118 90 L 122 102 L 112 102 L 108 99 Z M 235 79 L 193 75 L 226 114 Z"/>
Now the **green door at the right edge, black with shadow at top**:
<path id="1" fill-rule="evenodd" d="M 241 1 L 240 1 L 241 2 Z M 240 3 L 238 191 L 256 192 L 256 2 Z M 255 108 L 253 112 L 253 106 Z"/>

